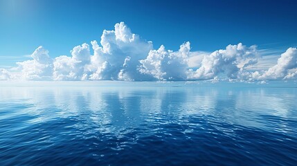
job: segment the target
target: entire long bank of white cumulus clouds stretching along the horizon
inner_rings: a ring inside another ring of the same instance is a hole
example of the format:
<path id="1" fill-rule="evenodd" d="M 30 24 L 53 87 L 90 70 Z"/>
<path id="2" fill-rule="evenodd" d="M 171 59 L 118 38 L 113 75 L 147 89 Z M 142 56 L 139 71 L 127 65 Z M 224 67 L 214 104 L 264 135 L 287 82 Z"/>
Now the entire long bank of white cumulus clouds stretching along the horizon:
<path id="1" fill-rule="evenodd" d="M 163 45 L 154 50 L 152 42 L 132 33 L 123 22 L 114 30 L 103 30 L 100 42 L 90 44 L 75 46 L 71 56 L 55 58 L 39 46 L 31 60 L 17 62 L 15 68 L 0 68 L 0 80 L 262 81 L 297 77 L 296 48 L 288 48 L 267 70 L 253 71 L 262 59 L 257 46 L 240 43 L 206 53 L 191 51 L 190 42 L 185 42 L 176 51 Z"/>

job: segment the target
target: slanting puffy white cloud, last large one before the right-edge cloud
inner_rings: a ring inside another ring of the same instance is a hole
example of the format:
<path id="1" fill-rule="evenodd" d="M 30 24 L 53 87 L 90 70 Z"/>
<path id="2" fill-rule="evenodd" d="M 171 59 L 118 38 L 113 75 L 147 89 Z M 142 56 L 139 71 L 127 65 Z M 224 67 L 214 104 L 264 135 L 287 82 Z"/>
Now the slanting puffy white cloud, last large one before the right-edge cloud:
<path id="1" fill-rule="evenodd" d="M 201 80 L 212 79 L 220 73 L 226 77 L 237 78 L 239 71 L 246 66 L 258 61 L 256 46 L 246 47 L 244 45 L 228 45 L 226 50 L 216 50 L 210 55 L 204 55 L 201 66 L 196 70 L 190 70 L 189 79 Z"/>

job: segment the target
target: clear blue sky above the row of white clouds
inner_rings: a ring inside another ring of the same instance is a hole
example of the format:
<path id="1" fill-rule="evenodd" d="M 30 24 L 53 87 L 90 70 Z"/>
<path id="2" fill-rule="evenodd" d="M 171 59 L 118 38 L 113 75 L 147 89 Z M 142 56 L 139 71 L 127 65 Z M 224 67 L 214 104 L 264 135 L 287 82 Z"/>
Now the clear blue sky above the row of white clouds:
<path id="1" fill-rule="evenodd" d="M 284 53 L 297 46 L 296 5 L 293 0 L 0 0 L 0 66 L 30 59 L 38 46 L 52 58 L 70 55 L 74 46 L 99 42 L 102 30 L 120 21 L 154 49 L 163 44 L 178 50 L 189 41 L 192 51 L 213 52 L 241 42 Z"/>

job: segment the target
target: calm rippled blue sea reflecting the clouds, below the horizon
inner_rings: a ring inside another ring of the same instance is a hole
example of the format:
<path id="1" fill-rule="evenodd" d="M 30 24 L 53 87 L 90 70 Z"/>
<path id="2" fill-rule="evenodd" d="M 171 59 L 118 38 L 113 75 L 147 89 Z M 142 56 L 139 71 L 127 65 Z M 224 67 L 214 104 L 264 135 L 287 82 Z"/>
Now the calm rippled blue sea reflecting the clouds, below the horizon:
<path id="1" fill-rule="evenodd" d="M 296 88 L 183 84 L 2 86 L 0 165 L 297 164 Z"/>

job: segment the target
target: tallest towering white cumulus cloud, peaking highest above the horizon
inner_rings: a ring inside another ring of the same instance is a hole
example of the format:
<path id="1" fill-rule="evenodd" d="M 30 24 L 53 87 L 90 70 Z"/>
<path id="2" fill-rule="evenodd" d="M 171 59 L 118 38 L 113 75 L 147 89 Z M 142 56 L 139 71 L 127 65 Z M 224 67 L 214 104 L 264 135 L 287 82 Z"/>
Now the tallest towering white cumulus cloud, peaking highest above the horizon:
<path id="1" fill-rule="evenodd" d="M 152 50 L 152 42 L 141 40 L 123 23 L 116 24 L 115 30 L 104 30 L 100 44 L 91 42 L 94 55 L 89 71 L 91 80 L 146 80 L 137 71 L 139 60 Z"/>

